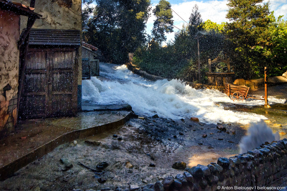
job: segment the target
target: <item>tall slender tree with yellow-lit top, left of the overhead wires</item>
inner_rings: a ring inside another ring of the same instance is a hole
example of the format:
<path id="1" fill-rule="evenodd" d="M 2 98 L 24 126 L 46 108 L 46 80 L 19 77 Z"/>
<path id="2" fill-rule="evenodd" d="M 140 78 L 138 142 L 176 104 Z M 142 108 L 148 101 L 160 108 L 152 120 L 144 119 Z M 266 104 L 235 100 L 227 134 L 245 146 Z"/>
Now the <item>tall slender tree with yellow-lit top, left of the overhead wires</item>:
<path id="1" fill-rule="evenodd" d="M 165 0 L 159 1 L 155 6 L 154 16 L 156 19 L 153 23 L 152 37 L 159 44 L 167 40 L 165 33 L 173 32 L 173 16 L 170 7 L 170 3 Z"/>

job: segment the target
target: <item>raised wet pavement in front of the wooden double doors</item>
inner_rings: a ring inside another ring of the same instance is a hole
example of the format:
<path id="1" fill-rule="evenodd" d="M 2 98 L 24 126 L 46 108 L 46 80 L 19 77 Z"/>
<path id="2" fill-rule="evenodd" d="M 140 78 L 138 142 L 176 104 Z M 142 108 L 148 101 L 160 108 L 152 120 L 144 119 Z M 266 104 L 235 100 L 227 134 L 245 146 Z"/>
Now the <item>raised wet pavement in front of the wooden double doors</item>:
<path id="1" fill-rule="evenodd" d="M 0 166 L 4 166 L 64 133 L 124 118 L 129 111 L 82 112 L 76 117 L 19 120 L 16 130 L 0 139 Z"/>

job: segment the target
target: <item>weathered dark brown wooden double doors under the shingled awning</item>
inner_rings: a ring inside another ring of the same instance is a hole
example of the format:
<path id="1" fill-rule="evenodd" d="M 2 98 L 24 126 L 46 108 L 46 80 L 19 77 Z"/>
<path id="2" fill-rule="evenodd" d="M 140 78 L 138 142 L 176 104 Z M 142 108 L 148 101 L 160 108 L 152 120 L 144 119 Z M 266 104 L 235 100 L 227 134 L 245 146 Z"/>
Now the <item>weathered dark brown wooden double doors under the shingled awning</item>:
<path id="1" fill-rule="evenodd" d="M 29 49 L 20 118 L 77 113 L 77 50 Z"/>

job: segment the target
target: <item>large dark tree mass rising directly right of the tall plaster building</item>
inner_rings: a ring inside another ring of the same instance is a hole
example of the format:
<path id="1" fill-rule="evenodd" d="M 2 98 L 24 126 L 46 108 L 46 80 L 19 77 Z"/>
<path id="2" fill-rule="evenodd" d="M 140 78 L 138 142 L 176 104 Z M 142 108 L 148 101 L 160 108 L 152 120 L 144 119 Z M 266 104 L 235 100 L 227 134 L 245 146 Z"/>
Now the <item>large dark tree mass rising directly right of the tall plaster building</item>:
<path id="1" fill-rule="evenodd" d="M 83 22 L 90 27 L 83 39 L 97 46 L 106 61 L 126 61 L 129 52 L 142 46 L 150 0 L 95 0 L 96 7 L 86 8 Z"/>

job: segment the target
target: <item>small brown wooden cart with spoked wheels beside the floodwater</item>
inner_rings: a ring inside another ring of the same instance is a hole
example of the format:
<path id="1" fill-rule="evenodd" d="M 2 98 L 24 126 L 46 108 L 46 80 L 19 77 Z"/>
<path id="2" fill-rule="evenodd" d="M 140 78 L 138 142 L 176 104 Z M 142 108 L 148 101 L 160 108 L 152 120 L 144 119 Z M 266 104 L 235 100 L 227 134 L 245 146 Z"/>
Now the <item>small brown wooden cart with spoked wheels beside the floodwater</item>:
<path id="1" fill-rule="evenodd" d="M 225 84 L 225 93 L 230 97 L 233 101 L 241 101 L 244 99 L 252 98 L 265 100 L 265 98 L 259 96 L 248 95 L 250 87 L 235 85 L 235 84 Z"/>

